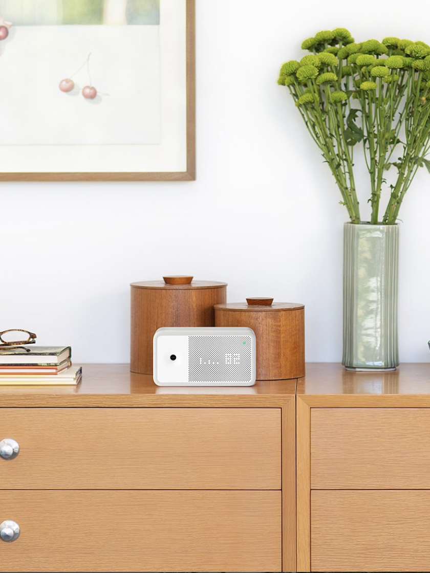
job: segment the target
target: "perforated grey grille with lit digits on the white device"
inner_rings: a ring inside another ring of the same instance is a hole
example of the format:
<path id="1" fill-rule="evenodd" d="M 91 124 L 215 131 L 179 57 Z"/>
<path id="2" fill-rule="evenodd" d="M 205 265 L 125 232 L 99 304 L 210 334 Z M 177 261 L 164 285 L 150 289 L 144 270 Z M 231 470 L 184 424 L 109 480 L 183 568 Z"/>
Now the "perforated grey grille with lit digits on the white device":
<path id="1" fill-rule="evenodd" d="M 251 382 L 251 336 L 189 336 L 188 348 L 190 382 Z"/>

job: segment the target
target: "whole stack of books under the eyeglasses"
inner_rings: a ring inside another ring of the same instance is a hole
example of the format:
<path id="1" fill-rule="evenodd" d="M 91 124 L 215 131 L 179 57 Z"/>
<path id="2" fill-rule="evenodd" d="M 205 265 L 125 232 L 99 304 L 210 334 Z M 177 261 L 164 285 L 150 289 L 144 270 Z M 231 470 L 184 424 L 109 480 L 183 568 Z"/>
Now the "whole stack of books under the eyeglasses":
<path id="1" fill-rule="evenodd" d="M 30 348 L 30 347 L 27 347 Z M 78 384 L 82 368 L 72 366 L 69 346 L 33 346 L 0 350 L 0 386 L 2 384 Z"/>

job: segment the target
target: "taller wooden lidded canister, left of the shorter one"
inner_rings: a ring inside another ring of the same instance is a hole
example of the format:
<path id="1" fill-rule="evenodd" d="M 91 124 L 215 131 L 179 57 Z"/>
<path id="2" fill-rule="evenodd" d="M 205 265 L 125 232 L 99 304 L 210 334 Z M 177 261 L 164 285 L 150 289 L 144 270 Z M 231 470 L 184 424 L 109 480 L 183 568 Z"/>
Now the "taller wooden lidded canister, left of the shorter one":
<path id="1" fill-rule="evenodd" d="M 170 276 L 131 283 L 130 370 L 153 373 L 153 337 L 161 327 L 214 326 L 214 304 L 226 301 L 225 282 Z"/>

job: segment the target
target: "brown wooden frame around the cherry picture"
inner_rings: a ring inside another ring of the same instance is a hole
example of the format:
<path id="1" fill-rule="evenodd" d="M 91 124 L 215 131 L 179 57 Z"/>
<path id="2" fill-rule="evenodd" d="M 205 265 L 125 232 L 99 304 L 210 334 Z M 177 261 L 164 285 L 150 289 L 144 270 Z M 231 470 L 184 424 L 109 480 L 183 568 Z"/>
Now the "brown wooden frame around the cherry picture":
<path id="1" fill-rule="evenodd" d="M 186 0 L 186 171 L 0 173 L 0 181 L 191 181 L 196 179 L 196 0 Z"/>

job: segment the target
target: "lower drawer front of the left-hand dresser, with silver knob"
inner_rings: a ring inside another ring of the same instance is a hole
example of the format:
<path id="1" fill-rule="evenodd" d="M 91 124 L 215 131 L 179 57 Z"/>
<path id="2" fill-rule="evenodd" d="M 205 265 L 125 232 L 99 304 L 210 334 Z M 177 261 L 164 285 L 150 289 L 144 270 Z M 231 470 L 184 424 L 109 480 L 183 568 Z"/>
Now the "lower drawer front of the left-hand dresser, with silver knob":
<path id="1" fill-rule="evenodd" d="M 11 491 L 0 571 L 280 571 L 280 492 Z"/>

